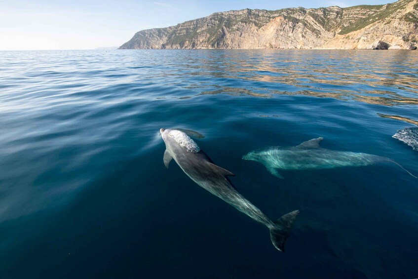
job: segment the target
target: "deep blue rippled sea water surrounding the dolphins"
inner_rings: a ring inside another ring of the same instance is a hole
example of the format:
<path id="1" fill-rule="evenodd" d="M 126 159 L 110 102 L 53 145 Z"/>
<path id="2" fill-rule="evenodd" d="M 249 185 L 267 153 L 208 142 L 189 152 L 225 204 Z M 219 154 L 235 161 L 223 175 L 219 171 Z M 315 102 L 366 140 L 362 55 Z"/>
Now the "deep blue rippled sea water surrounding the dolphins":
<path id="1" fill-rule="evenodd" d="M 324 137 L 389 157 L 418 124 L 418 52 L 0 52 L 0 278 L 417 278 L 418 180 L 394 164 L 272 176 L 249 151 Z M 163 165 L 160 128 L 236 174 L 268 230 Z"/>

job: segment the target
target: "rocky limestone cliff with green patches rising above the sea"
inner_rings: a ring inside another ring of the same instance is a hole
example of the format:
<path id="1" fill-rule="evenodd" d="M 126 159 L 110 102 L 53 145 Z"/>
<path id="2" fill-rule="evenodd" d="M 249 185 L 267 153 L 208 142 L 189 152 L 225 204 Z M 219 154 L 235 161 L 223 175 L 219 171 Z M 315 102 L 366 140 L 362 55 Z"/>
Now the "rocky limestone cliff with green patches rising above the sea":
<path id="1" fill-rule="evenodd" d="M 244 9 L 137 32 L 119 49 L 416 49 L 418 0 L 348 8 Z"/>

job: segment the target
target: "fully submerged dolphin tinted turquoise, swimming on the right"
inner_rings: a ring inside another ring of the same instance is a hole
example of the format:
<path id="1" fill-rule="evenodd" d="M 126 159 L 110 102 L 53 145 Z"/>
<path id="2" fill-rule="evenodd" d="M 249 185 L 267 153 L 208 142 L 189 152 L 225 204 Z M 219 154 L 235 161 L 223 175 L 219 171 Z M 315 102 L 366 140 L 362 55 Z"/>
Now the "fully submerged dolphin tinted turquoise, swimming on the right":
<path id="1" fill-rule="evenodd" d="M 271 147 L 267 150 L 251 151 L 244 155 L 242 159 L 261 162 L 272 175 L 278 178 L 283 178 L 278 172 L 280 169 L 326 169 L 343 166 L 365 166 L 378 162 L 395 163 L 411 174 L 400 164 L 386 157 L 321 148 L 319 142 L 323 139 L 322 137 L 311 139 L 296 147 Z"/>

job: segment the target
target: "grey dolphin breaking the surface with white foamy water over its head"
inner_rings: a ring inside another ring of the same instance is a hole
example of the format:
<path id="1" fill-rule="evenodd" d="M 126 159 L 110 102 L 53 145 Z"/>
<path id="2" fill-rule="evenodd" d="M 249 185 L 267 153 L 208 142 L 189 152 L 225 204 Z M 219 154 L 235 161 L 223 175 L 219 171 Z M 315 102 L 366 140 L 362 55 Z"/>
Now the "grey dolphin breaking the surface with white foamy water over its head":
<path id="1" fill-rule="evenodd" d="M 284 243 L 299 210 L 283 215 L 276 222 L 271 221 L 260 209 L 236 191 L 228 178 L 235 175 L 217 166 L 185 132 L 160 129 L 160 133 L 165 143 L 164 165 L 167 168 L 174 159 L 197 185 L 265 225 L 270 231 L 270 239 L 274 247 L 284 252 Z"/>

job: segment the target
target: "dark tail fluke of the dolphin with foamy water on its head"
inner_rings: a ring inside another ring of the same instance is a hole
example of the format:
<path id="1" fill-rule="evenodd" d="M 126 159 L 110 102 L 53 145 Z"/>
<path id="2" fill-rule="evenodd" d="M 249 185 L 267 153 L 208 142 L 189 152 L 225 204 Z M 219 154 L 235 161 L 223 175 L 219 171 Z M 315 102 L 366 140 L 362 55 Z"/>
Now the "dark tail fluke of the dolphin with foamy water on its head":
<path id="1" fill-rule="evenodd" d="M 296 216 L 298 216 L 298 214 L 299 210 L 287 213 L 280 217 L 279 220 L 274 222 L 274 226 L 270 228 L 270 239 L 277 250 L 284 252 L 284 243 L 286 242 L 286 239 L 289 237 L 293 221 L 296 219 Z"/>

